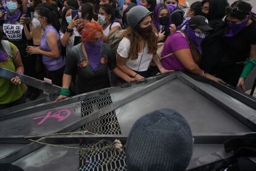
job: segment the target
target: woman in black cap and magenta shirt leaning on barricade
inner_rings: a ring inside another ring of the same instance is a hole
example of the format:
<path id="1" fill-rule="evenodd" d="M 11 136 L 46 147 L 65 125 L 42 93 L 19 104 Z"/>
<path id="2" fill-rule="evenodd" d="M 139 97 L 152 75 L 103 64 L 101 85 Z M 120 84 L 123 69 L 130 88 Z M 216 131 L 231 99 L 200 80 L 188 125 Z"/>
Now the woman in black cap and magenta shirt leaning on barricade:
<path id="1" fill-rule="evenodd" d="M 205 17 L 201 15 L 192 17 L 186 30 L 174 31 L 165 41 L 160 57 L 163 67 L 168 70 L 189 71 L 224 83 L 221 79 L 205 73 L 197 65 L 202 54 L 201 43 L 211 30 Z"/>

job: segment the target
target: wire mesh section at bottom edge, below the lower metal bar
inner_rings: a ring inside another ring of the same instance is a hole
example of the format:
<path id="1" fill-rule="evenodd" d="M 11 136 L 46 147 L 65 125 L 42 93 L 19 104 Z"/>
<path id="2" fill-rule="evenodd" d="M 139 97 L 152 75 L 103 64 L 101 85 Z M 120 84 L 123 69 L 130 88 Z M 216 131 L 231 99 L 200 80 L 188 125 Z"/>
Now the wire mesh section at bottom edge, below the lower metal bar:
<path id="1" fill-rule="evenodd" d="M 102 141 L 96 144 L 97 148 L 104 148 L 109 143 Z M 81 144 L 81 148 L 92 148 L 95 144 Z M 79 156 L 79 171 L 122 171 L 126 170 L 126 154 L 125 152 L 116 151 L 116 149 L 108 148 L 98 152 Z"/>

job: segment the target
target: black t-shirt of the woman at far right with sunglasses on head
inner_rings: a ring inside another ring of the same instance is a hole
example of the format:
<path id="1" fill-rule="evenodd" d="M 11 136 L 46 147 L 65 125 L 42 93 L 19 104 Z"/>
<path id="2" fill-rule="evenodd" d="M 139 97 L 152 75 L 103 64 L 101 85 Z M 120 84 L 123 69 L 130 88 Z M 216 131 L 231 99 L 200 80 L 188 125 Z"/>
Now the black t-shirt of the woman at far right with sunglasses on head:
<path id="1" fill-rule="evenodd" d="M 227 32 L 228 26 L 224 34 Z M 256 22 L 254 21 L 234 37 L 223 36 L 223 65 L 233 65 L 248 59 L 251 44 L 256 44 Z"/>

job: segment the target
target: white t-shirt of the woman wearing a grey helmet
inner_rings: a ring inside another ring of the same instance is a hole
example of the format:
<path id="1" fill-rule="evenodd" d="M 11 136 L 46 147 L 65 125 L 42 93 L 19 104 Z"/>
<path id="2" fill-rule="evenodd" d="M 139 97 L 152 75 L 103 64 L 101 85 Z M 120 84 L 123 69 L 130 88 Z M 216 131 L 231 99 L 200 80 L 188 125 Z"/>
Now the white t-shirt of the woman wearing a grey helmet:
<path id="1" fill-rule="evenodd" d="M 131 60 L 129 59 L 130 52 L 130 40 L 127 38 L 122 38 L 120 41 L 117 54 L 121 57 L 128 58 L 126 60 L 126 66 L 135 71 L 146 71 L 148 70 L 148 66 L 153 58 L 153 54 L 148 54 L 148 45 L 145 45 L 143 52 L 138 53 L 138 58 Z M 139 69 L 139 70 L 138 70 Z"/>

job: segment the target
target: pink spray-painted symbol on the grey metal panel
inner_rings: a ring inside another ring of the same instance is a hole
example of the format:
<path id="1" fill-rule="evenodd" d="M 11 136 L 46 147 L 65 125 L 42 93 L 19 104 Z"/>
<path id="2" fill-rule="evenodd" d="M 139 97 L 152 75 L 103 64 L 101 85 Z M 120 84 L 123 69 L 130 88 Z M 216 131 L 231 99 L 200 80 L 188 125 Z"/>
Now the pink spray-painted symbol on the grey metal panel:
<path id="1" fill-rule="evenodd" d="M 63 120 L 67 119 L 67 117 L 69 117 L 70 114 L 71 112 L 69 109 L 61 109 L 56 112 L 48 111 L 46 115 L 34 117 L 33 120 L 41 119 L 41 121 L 38 122 L 37 125 L 43 124 L 49 118 L 55 118 L 58 119 L 59 122 L 62 122 Z"/>

